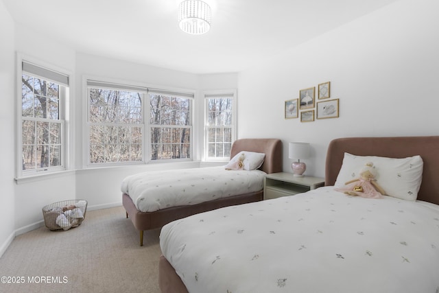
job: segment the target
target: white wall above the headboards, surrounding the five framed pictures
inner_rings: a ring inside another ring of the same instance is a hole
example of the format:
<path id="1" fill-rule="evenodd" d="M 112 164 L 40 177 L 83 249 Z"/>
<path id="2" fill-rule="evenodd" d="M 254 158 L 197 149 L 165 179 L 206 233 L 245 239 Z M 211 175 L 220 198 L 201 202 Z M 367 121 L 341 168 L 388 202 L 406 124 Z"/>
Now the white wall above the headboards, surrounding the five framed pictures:
<path id="1" fill-rule="evenodd" d="M 324 176 L 331 139 L 438 135 L 438 10 L 437 0 L 396 1 L 241 72 L 239 137 L 282 139 L 285 172 L 287 143 L 307 141 L 306 174 Z M 339 118 L 284 119 L 285 100 L 327 81 Z"/>

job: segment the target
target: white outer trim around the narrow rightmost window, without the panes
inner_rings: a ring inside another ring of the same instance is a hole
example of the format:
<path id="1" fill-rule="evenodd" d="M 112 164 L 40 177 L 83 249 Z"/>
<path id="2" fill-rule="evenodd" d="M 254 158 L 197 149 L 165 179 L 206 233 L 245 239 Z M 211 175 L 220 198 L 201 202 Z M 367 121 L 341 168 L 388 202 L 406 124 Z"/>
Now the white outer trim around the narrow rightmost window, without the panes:
<path id="1" fill-rule="evenodd" d="M 206 103 L 207 96 L 209 95 L 224 95 L 224 94 L 231 94 L 233 95 L 233 109 L 232 109 L 232 144 L 237 139 L 237 90 L 236 89 L 226 89 L 226 90 L 219 90 L 219 91 L 203 91 L 202 97 L 203 97 L 203 113 L 204 113 L 204 124 L 203 124 L 203 161 L 206 162 L 225 162 L 229 161 L 228 157 L 221 157 L 221 158 L 214 158 L 209 156 L 209 143 L 208 143 L 208 105 Z"/>

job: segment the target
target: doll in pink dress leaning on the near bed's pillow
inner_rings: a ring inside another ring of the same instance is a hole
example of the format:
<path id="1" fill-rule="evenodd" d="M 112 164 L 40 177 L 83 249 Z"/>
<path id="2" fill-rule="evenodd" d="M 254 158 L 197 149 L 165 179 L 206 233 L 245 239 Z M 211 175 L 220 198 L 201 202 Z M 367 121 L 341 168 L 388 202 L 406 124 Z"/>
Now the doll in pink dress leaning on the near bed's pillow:
<path id="1" fill-rule="evenodd" d="M 350 196 L 361 196 L 364 198 L 381 198 L 385 195 L 383 187 L 379 186 L 377 180 L 377 170 L 373 163 L 366 163 L 360 170 L 359 178 L 345 183 L 346 186 L 335 190 L 342 191 Z"/>

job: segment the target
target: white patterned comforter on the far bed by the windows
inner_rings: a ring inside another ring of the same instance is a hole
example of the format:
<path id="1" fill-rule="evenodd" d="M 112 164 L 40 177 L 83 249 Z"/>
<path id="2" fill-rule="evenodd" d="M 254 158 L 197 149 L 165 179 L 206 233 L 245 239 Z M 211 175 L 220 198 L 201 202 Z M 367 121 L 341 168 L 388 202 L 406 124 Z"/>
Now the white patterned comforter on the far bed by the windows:
<path id="1" fill-rule="evenodd" d="M 198 204 L 263 189 L 265 172 L 221 167 L 143 172 L 123 179 L 121 191 L 139 211 Z"/>

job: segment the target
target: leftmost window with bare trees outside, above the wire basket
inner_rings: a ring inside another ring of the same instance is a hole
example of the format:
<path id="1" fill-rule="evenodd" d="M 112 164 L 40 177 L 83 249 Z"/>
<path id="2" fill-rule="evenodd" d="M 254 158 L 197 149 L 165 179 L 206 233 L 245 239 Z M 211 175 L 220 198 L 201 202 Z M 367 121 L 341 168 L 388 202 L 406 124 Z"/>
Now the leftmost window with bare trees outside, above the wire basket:
<path id="1" fill-rule="evenodd" d="M 67 86 L 67 75 L 22 62 L 22 176 L 64 169 L 64 98 Z"/>

